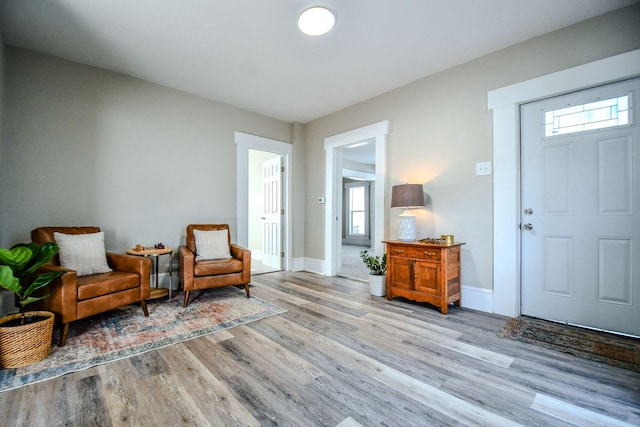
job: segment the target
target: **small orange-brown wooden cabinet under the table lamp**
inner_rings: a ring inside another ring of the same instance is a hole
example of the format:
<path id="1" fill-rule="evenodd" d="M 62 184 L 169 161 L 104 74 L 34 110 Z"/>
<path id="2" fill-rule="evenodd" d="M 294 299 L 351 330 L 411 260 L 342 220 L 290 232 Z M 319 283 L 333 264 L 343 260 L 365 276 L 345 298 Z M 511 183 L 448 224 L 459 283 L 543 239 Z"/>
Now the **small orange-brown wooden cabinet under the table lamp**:
<path id="1" fill-rule="evenodd" d="M 447 314 L 460 305 L 460 246 L 384 241 L 387 244 L 387 299 L 428 302 Z"/>

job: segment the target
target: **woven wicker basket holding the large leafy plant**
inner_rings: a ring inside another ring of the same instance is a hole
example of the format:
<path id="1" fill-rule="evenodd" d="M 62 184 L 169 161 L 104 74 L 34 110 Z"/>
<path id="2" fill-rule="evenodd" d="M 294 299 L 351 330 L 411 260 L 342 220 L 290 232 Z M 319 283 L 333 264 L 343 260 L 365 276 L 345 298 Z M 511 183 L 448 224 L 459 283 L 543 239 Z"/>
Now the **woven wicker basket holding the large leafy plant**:
<path id="1" fill-rule="evenodd" d="M 43 316 L 46 319 L 28 325 L 2 326 L 22 314 L 9 314 L 0 318 L 0 367 L 19 368 L 31 365 L 49 355 L 53 335 L 54 314 L 49 311 L 28 311 L 25 316 Z"/>

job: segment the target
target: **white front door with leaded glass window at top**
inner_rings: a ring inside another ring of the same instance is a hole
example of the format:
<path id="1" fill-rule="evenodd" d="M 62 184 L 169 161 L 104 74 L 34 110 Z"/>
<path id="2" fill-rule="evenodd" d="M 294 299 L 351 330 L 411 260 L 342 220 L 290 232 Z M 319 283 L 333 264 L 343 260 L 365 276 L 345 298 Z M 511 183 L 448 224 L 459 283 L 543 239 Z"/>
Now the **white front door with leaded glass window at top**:
<path id="1" fill-rule="evenodd" d="M 640 336 L 639 89 L 522 106 L 523 315 Z"/>

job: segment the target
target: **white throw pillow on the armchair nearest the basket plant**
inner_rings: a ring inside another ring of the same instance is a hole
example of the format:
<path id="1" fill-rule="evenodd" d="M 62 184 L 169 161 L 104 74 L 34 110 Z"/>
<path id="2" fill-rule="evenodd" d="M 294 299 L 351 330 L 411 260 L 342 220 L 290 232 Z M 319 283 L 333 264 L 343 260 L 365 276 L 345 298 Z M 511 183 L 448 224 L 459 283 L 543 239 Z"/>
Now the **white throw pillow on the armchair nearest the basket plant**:
<path id="1" fill-rule="evenodd" d="M 60 265 L 75 270 L 78 276 L 112 271 L 107 264 L 104 232 L 89 234 L 54 232 L 53 238 L 60 248 Z"/>

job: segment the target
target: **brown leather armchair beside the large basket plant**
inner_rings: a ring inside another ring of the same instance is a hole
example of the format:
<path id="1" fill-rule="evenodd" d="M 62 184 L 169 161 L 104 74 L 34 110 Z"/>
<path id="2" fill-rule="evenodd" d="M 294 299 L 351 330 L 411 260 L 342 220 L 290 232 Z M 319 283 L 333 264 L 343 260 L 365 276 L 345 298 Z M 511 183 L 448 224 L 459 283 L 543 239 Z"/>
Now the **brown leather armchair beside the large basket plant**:
<path id="1" fill-rule="evenodd" d="M 39 244 L 55 242 L 54 232 L 63 234 L 98 233 L 98 227 L 40 227 L 31 231 L 31 241 Z M 78 277 L 74 270 L 60 266 L 56 255 L 43 268 L 66 270 L 48 287 L 49 298 L 39 302 L 40 307 L 52 311 L 62 322 L 60 346 L 67 342 L 69 324 L 94 314 L 139 302 L 145 316 L 149 298 L 149 272 L 151 260 L 143 257 L 107 252 L 107 263 L 113 271 Z"/>

